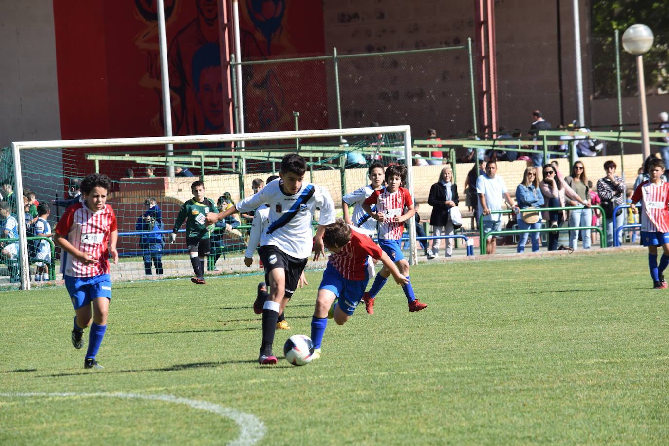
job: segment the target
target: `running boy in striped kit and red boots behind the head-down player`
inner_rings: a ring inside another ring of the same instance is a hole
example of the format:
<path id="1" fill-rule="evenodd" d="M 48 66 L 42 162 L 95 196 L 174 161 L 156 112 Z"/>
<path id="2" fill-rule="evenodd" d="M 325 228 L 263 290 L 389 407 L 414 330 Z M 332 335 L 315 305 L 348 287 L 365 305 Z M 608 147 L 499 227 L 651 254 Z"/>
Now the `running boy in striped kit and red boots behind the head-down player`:
<path id="1" fill-rule="evenodd" d="M 416 211 L 413 207 L 411 194 L 407 189 L 400 187 L 406 179 L 407 166 L 403 164 L 388 166 L 385 170 L 385 189 L 374 191 L 372 195 L 367 197 L 363 201 L 363 209 L 379 221 L 379 246 L 397 265 L 399 272 L 409 279 L 409 263 L 404 259 L 399 241 L 404 231 L 404 222 L 413 217 Z M 376 205 L 376 212 L 372 211 L 372 205 Z M 407 213 L 403 213 L 405 208 Z M 374 314 L 374 299 L 385 285 L 389 275 L 390 271 L 385 266 L 381 268 L 374 279 L 372 288 L 363 296 L 365 309 L 369 314 Z M 427 304 L 421 304 L 416 300 L 411 287 L 411 279 L 409 279 L 408 284 L 402 287 L 402 290 L 407 296 L 410 312 L 423 310 L 427 306 Z"/>

